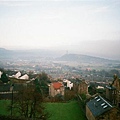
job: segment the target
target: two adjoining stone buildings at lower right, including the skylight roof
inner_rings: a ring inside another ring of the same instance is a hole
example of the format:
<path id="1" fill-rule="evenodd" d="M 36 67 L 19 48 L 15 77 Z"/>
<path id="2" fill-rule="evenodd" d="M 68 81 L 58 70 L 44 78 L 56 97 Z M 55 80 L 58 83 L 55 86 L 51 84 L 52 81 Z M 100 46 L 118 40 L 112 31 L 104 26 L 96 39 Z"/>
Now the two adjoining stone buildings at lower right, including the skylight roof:
<path id="1" fill-rule="evenodd" d="M 120 79 L 106 86 L 106 98 L 95 96 L 86 104 L 88 120 L 120 120 Z"/>

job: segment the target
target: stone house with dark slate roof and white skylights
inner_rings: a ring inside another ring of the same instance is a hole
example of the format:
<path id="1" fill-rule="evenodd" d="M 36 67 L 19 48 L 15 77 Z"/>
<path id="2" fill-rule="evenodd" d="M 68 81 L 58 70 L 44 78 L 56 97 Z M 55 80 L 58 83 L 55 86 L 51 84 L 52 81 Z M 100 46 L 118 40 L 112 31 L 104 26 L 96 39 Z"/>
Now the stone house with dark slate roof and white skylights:
<path id="1" fill-rule="evenodd" d="M 88 120 L 120 120 L 119 110 L 108 103 L 100 95 L 86 103 Z"/>

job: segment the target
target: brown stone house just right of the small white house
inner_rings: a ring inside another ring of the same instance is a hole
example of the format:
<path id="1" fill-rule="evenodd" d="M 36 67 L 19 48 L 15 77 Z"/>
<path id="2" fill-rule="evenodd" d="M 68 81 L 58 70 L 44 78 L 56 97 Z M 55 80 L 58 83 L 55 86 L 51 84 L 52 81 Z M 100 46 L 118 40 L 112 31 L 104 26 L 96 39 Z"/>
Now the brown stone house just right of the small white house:
<path id="1" fill-rule="evenodd" d="M 85 80 L 81 80 L 78 84 L 78 94 L 88 94 L 88 84 Z"/>

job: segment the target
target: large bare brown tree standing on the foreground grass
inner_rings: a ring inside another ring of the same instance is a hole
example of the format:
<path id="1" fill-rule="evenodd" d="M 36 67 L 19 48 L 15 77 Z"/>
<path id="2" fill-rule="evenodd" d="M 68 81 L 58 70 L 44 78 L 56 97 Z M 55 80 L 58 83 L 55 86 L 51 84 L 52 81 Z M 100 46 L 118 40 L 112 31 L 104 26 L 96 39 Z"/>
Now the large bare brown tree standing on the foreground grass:
<path id="1" fill-rule="evenodd" d="M 13 112 L 23 119 L 46 120 L 42 94 L 34 86 L 24 87 L 14 97 Z"/>

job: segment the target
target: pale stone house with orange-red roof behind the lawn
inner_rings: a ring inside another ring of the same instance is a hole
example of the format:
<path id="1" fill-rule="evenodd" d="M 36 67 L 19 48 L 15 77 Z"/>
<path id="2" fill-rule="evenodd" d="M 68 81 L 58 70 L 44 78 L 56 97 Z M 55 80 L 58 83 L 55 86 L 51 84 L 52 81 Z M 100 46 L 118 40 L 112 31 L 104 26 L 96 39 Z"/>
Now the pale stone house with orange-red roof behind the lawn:
<path id="1" fill-rule="evenodd" d="M 49 95 L 55 97 L 57 94 L 64 96 L 64 85 L 61 82 L 53 82 L 49 86 Z"/>

